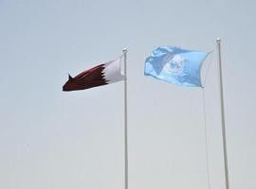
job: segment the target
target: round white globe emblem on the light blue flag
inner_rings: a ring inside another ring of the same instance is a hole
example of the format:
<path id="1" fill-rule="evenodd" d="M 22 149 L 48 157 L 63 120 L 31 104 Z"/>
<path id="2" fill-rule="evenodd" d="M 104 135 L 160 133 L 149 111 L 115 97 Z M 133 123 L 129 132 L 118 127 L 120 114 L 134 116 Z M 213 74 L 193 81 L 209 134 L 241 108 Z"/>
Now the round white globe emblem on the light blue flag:
<path id="1" fill-rule="evenodd" d="M 166 60 L 164 71 L 168 74 L 180 75 L 184 67 L 185 59 L 179 55 L 174 55 Z"/>

